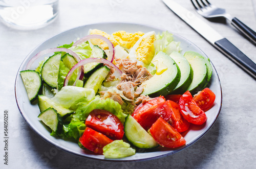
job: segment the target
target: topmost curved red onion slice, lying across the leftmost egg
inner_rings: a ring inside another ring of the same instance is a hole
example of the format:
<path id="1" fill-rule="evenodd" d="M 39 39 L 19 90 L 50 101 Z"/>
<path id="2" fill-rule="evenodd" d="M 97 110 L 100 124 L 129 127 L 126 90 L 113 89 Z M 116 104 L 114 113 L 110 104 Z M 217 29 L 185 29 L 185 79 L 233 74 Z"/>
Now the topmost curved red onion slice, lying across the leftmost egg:
<path id="1" fill-rule="evenodd" d="M 101 39 L 103 40 L 104 42 L 106 42 L 106 44 L 108 44 L 109 46 L 109 50 L 110 50 L 110 54 L 109 54 L 109 57 L 108 57 L 108 61 L 110 62 L 113 62 L 114 60 L 114 57 L 115 57 L 115 48 L 114 48 L 114 45 L 113 43 L 106 37 L 104 36 L 101 36 L 101 35 L 87 35 L 87 36 L 84 36 L 82 37 L 81 39 L 77 40 L 73 46 L 77 46 L 78 44 L 81 44 L 83 42 L 86 42 L 90 39 Z"/>

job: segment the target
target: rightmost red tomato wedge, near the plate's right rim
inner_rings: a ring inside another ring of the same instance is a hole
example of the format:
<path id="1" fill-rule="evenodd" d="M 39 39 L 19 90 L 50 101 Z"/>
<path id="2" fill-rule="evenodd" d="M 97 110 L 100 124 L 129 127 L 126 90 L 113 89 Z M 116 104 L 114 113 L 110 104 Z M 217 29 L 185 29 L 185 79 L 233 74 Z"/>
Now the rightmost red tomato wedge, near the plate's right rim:
<path id="1" fill-rule="evenodd" d="M 207 111 L 211 108 L 212 104 L 214 104 L 215 93 L 209 88 L 205 88 L 194 95 L 194 100 L 203 111 Z"/>

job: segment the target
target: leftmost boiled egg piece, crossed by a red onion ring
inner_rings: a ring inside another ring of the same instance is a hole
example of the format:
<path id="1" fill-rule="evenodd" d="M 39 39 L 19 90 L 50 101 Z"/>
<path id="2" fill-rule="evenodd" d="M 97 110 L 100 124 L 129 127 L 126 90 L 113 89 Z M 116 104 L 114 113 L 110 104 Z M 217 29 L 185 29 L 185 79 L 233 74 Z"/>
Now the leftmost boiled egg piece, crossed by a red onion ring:
<path id="1" fill-rule="evenodd" d="M 95 35 L 95 34 L 108 38 L 114 44 L 114 46 L 116 46 L 118 44 L 115 41 L 114 38 L 112 38 L 109 34 L 103 32 L 103 31 L 100 31 L 100 30 L 97 30 L 97 29 L 93 29 L 93 30 L 90 31 L 90 35 Z M 93 45 L 98 45 L 103 50 L 108 50 L 109 49 L 108 44 L 106 44 L 106 42 L 104 42 L 101 39 L 91 39 L 90 41 Z"/>

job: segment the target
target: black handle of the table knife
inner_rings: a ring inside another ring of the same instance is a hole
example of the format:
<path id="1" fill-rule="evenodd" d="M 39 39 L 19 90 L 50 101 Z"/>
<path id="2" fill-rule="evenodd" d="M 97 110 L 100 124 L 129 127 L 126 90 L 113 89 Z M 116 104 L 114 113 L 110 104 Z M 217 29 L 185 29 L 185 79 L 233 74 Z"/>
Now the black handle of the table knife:
<path id="1" fill-rule="evenodd" d="M 256 80 L 256 64 L 243 54 L 236 46 L 229 42 L 226 38 L 215 42 L 217 48 L 228 58 L 237 63 L 249 75 Z"/>

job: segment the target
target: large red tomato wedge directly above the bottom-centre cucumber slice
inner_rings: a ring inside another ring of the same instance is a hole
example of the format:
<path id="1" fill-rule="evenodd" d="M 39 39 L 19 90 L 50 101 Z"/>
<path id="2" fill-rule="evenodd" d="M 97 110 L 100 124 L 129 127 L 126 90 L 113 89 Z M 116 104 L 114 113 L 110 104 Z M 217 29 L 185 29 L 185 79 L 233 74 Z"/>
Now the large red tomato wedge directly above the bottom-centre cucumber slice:
<path id="1" fill-rule="evenodd" d="M 163 96 L 154 98 L 143 105 L 139 105 L 140 107 L 134 111 L 132 116 L 145 130 L 148 130 L 160 116 L 166 121 L 170 119 L 171 113 L 166 111 L 164 103 Z"/>

